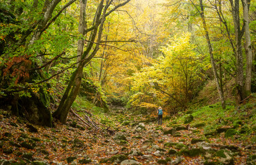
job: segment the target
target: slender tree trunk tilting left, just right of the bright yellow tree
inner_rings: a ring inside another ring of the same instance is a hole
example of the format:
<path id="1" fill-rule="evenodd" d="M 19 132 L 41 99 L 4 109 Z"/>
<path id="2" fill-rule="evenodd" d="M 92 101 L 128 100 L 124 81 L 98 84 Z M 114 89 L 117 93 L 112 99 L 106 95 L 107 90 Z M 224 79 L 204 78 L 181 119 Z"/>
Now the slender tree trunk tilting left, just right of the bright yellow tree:
<path id="1" fill-rule="evenodd" d="M 200 14 L 201 14 L 201 19 L 202 19 L 202 22 L 203 22 L 203 25 L 204 25 L 204 32 L 206 33 L 205 36 L 206 36 L 206 40 L 207 40 L 207 43 L 208 43 L 208 48 L 209 48 L 209 53 L 210 53 L 210 62 L 211 62 L 212 67 L 213 67 L 213 74 L 214 74 L 214 77 L 215 77 L 215 83 L 217 85 L 219 98 L 221 100 L 221 107 L 222 107 L 222 109 L 226 109 L 224 94 L 221 91 L 221 85 L 219 85 L 217 69 L 216 69 L 216 65 L 215 65 L 215 59 L 214 59 L 214 56 L 213 56 L 213 47 L 210 43 L 210 37 L 209 37 L 207 26 L 206 26 L 206 19 L 204 17 L 204 5 L 203 5 L 202 0 L 199 0 L 199 1 L 200 1 L 200 8 L 201 8 Z"/>

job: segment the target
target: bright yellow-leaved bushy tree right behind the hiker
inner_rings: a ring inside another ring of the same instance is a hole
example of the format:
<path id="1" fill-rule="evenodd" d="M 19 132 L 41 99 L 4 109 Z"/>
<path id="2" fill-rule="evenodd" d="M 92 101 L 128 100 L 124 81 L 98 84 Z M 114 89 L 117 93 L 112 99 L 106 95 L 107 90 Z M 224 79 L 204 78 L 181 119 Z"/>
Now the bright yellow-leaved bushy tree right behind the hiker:
<path id="1" fill-rule="evenodd" d="M 145 67 L 135 74 L 132 90 L 136 94 L 131 97 L 131 104 L 135 107 L 164 104 L 172 112 L 177 107 L 186 109 L 195 96 L 204 71 L 210 67 L 204 56 L 197 54 L 194 49 L 189 33 L 170 39 L 161 48 L 164 56 L 151 67 Z"/>

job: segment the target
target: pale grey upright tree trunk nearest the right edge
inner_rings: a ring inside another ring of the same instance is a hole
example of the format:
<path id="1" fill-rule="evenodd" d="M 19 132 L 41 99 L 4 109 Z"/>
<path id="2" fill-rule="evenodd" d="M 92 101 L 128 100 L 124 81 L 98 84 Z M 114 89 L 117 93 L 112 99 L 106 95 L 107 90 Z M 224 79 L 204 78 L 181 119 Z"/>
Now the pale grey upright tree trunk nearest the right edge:
<path id="1" fill-rule="evenodd" d="M 244 36 L 246 39 L 246 80 L 245 80 L 245 92 L 246 96 L 251 93 L 251 80 L 252 80 L 252 68 L 253 68 L 253 52 L 250 43 L 250 29 L 249 29 L 249 4 L 250 0 L 242 0 L 243 12 L 244 12 Z M 245 97 L 246 97 L 245 96 Z"/>

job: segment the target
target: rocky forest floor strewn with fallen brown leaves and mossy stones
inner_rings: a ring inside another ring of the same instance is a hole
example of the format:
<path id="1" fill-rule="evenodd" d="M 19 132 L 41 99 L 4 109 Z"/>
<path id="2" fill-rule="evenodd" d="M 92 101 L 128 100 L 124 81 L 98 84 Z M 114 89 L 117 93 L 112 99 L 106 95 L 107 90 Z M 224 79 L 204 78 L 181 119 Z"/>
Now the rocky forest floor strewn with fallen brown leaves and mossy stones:
<path id="1" fill-rule="evenodd" d="M 75 115 L 48 128 L 0 112 L 0 164 L 254 164 L 255 159 L 255 142 L 225 137 L 221 130 L 206 138 L 200 124 L 164 120 L 159 126 L 154 116 L 116 112 L 101 120 L 115 126 L 110 133 L 84 129 Z"/>

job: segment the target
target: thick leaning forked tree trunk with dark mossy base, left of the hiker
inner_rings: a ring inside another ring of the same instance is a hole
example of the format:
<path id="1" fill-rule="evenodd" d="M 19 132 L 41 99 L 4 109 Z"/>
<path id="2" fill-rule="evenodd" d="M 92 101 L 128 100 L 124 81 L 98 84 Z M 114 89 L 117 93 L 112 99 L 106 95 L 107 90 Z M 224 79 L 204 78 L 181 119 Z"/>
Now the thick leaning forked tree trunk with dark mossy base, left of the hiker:
<path id="1" fill-rule="evenodd" d="M 106 17 L 108 17 L 109 14 L 117 10 L 117 8 L 126 5 L 126 3 L 128 3 L 129 1 L 130 0 L 124 1 L 123 3 L 119 3 L 109 11 L 108 9 L 110 8 L 110 5 L 112 5 L 113 1 L 107 0 L 105 4 L 104 0 L 100 1 L 97 7 L 97 11 L 95 12 L 95 18 L 93 20 L 92 27 L 86 30 L 86 32 L 91 31 L 86 50 L 83 52 L 81 56 L 81 61 L 79 61 L 77 69 L 75 69 L 75 72 L 72 73 L 72 76 L 68 83 L 68 87 L 66 88 L 66 91 L 63 94 L 63 97 L 61 98 L 61 102 L 59 103 L 58 109 L 52 114 L 62 123 L 66 123 L 66 118 L 68 116 L 70 107 L 74 102 L 75 98 L 77 97 L 79 87 L 81 85 L 83 67 L 90 62 L 90 60 L 95 56 L 95 54 L 99 50 L 101 34 L 104 30 L 104 22 L 106 20 Z"/>

